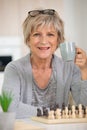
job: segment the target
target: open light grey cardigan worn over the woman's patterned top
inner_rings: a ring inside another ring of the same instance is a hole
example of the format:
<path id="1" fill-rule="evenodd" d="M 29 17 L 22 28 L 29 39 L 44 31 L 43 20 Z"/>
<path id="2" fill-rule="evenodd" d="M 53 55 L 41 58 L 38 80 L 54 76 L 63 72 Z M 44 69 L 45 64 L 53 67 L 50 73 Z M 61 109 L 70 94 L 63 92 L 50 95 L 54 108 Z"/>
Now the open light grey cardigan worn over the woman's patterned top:
<path id="1" fill-rule="evenodd" d="M 67 105 L 69 91 L 76 104 L 87 105 L 87 80 L 81 80 L 80 69 L 73 62 L 64 62 L 53 56 L 53 67 L 56 70 L 57 90 L 55 102 Z M 3 90 L 12 91 L 14 100 L 9 111 L 16 112 L 16 118 L 35 116 L 37 107 L 32 104 L 32 67 L 30 54 L 10 62 L 5 69 Z"/>

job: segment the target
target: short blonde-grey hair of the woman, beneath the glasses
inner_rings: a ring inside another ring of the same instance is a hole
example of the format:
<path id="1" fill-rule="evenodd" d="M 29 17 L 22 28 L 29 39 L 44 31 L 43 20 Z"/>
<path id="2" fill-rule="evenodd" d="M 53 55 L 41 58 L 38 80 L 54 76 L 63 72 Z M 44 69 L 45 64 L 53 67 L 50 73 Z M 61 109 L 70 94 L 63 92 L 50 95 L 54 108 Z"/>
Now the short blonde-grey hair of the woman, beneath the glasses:
<path id="1" fill-rule="evenodd" d="M 28 44 L 32 31 L 36 30 L 37 27 L 44 25 L 53 25 L 58 33 L 58 42 L 64 42 L 64 23 L 59 14 L 55 11 L 53 15 L 40 13 L 35 17 L 32 17 L 28 14 L 27 18 L 23 22 L 23 34 L 25 44 Z"/>

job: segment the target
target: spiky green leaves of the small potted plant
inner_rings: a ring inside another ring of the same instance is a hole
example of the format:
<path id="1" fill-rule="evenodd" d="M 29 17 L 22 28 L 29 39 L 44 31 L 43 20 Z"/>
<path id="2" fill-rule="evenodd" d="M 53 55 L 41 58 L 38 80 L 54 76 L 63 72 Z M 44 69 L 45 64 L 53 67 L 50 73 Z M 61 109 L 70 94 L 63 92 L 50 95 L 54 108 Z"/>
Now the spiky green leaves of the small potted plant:
<path id="1" fill-rule="evenodd" d="M 3 110 L 3 112 L 7 112 L 8 108 L 12 102 L 12 94 L 11 92 L 3 91 L 0 95 L 0 105 Z"/>

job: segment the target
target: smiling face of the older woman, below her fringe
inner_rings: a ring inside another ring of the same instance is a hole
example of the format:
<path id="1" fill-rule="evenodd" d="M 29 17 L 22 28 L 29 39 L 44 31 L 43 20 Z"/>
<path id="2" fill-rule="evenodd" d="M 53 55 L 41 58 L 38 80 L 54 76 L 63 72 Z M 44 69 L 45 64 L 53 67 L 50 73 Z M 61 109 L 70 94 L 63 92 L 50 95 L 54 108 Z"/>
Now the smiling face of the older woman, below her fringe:
<path id="1" fill-rule="evenodd" d="M 46 59 L 52 56 L 58 46 L 58 34 L 54 26 L 39 26 L 29 38 L 32 56 Z"/>

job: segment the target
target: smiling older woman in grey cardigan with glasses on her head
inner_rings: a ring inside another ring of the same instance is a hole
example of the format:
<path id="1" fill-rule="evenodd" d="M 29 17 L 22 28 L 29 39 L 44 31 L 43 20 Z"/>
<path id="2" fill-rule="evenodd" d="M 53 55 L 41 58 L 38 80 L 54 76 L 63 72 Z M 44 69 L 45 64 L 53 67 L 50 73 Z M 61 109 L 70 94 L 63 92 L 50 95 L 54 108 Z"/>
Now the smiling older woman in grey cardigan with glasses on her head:
<path id="1" fill-rule="evenodd" d="M 69 92 L 76 104 L 87 105 L 87 58 L 77 48 L 75 63 L 64 62 L 54 52 L 64 42 L 64 24 L 53 9 L 32 10 L 23 23 L 30 53 L 10 62 L 3 90 L 12 91 L 9 111 L 17 118 L 36 115 L 37 107 L 68 104 Z"/>

